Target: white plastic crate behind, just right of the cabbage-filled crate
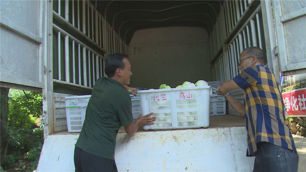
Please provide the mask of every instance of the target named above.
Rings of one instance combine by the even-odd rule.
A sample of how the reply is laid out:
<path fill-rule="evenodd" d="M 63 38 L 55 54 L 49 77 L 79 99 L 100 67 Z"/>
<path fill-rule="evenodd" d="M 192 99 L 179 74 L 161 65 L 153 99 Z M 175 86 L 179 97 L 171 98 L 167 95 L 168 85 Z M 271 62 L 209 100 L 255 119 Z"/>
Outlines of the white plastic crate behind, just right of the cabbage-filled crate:
<path fill-rule="evenodd" d="M 226 114 L 226 99 L 223 95 L 210 97 L 209 115 L 225 115 Z"/>

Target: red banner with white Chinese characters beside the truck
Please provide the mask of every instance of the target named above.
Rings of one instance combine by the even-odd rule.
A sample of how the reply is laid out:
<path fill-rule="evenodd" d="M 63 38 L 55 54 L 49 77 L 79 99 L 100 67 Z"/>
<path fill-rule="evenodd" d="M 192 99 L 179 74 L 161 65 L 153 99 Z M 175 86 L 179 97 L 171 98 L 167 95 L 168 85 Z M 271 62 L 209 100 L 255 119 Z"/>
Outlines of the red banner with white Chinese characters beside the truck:
<path fill-rule="evenodd" d="M 285 92 L 282 96 L 289 116 L 306 117 L 306 88 Z"/>

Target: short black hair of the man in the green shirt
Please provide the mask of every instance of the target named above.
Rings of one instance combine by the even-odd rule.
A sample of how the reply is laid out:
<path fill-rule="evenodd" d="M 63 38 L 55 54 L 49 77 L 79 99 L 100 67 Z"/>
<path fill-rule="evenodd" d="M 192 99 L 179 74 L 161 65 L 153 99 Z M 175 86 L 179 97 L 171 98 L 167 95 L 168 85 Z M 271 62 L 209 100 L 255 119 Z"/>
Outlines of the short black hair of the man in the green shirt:
<path fill-rule="evenodd" d="M 125 62 L 123 62 L 123 59 L 127 57 L 128 55 L 120 54 L 120 53 L 114 53 L 114 54 L 107 55 L 106 60 L 105 60 L 105 74 L 109 78 L 114 77 L 115 71 L 118 68 L 124 69 Z"/>

